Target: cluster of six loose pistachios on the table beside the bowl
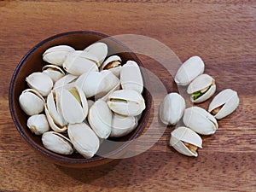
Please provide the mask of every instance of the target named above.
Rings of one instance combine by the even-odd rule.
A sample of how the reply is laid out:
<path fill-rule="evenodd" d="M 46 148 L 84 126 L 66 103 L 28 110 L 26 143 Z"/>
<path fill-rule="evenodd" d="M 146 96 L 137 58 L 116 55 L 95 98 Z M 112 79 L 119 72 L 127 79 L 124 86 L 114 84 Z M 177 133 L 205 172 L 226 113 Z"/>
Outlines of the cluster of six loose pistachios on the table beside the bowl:
<path fill-rule="evenodd" d="M 215 80 L 204 73 L 205 64 L 199 56 L 192 56 L 177 70 L 175 82 L 187 86 L 187 93 L 193 103 L 205 102 L 216 91 Z M 177 125 L 183 118 L 183 125 L 171 133 L 170 145 L 179 153 L 198 156 L 197 148 L 202 148 L 200 135 L 212 135 L 218 129 L 217 119 L 233 113 L 239 105 L 235 90 L 222 90 L 212 99 L 208 111 L 193 106 L 186 108 L 183 96 L 170 93 L 160 104 L 160 120 L 166 125 Z"/>

